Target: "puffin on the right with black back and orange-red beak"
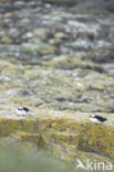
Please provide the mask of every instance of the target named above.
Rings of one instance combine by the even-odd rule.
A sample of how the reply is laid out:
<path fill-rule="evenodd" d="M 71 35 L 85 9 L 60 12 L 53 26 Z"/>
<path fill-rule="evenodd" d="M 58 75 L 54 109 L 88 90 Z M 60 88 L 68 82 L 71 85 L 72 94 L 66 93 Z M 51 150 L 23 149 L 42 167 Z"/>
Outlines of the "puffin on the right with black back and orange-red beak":
<path fill-rule="evenodd" d="M 101 116 L 97 116 L 97 115 L 95 115 L 95 114 L 90 115 L 90 117 L 91 117 L 91 121 L 92 121 L 93 123 L 97 123 L 97 125 L 102 125 L 104 121 L 107 120 L 106 118 L 101 117 Z"/>

